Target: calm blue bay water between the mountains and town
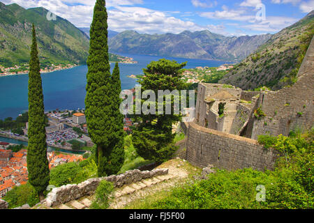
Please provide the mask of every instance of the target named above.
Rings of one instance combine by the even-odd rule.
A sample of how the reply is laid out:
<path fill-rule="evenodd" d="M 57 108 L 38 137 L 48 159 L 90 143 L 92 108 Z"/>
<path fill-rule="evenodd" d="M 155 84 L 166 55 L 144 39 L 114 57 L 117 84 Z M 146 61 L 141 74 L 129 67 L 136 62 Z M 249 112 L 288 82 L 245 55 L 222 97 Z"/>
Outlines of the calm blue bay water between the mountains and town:
<path fill-rule="evenodd" d="M 137 84 L 136 79 L 128 75 L 143 74 L 142 69 L 146 68 L 151 61 L 158 61 L 166 58 L 179 63 L 188 62 L 185 68 L 197 66 L 217 67 L 225 61 L 208 61 L 199 59 L 182 59 L 165 56 L 146 56 L 121 54 L 130 56 L 138 61 L 136 64 L 119 64 L 122 89 L 132 89 Z M 111 71 L 114 64 L 111 64 Z M 82 109 L 86 95 L 86 74 L 87 66 L 78 66 L 69 70 L 43 73 L 43 94 L 45 111 L 54 109 Z M 16 118 L 28 109 L 28 75 L 14 75 L 0 77 L 0 119 L 7 117 Z"/>

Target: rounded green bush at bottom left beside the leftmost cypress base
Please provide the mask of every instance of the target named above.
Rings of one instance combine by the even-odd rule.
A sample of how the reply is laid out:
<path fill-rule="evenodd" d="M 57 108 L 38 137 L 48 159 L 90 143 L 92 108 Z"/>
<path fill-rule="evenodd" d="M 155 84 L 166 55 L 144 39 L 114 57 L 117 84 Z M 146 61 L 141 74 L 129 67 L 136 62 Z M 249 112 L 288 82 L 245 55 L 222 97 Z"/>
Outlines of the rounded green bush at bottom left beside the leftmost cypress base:
<path fill-rule="evenodd" d="M 29 183 L 13 187 L 12 190 L 6 193 L 6 197 L 3 199 L 8 202 L 8 208 L 17 208 L 26 203 L 32 207 L 40 202 L 38 193 Z"/>

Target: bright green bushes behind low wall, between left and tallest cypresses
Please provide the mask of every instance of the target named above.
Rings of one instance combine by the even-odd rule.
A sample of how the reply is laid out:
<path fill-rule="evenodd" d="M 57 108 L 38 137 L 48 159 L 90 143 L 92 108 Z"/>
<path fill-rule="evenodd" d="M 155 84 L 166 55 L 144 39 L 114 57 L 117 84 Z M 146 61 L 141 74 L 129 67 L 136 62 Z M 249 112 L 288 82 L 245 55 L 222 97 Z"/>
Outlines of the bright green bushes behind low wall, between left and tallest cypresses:
<path fill-rule="evenodd" d="M 82 162 L 68 162 L 54 167 L 50 171 L 50 185 L 61 187 L 67 184 L 77 184 L 89 178 L 96 177 L 97 166 L 90 157 Z"/>

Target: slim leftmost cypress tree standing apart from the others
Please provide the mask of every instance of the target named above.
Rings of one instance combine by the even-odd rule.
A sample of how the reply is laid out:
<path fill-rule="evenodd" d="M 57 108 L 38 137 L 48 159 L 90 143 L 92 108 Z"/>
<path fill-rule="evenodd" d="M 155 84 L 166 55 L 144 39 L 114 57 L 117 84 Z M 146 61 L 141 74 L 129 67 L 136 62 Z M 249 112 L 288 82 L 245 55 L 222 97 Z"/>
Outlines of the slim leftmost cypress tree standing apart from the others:
<path fill-rule="evenodd" d="M 29 183 L 43 198 L 43 192 L 49 185 L 50 171 L 47 160 L 47 142 L 45 132 L 45 113 L 43 103 L 43 86 L 40 77 L 40 63 L 33 25 L 33 43 L 29 61 L 29 146 L 27 151 L 27 169 Z"/>

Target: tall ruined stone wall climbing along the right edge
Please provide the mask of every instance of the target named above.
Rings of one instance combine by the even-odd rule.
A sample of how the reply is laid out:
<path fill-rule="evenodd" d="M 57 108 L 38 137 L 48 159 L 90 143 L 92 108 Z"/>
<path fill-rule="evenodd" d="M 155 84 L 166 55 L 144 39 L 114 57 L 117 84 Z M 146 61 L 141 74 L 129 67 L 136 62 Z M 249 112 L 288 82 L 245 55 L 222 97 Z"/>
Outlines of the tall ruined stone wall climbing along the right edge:
<path fill-rule="evenodd" d="M 298 73 L 298 80 L 291 87 L 279 91 L 264 91 L 257 101 L 266 115 L 255 119 L 252 139 L 260 134 L 283 134 L 313 127 L 313 89 L 314 89 L 314 38 L 308 47 Z"/>

